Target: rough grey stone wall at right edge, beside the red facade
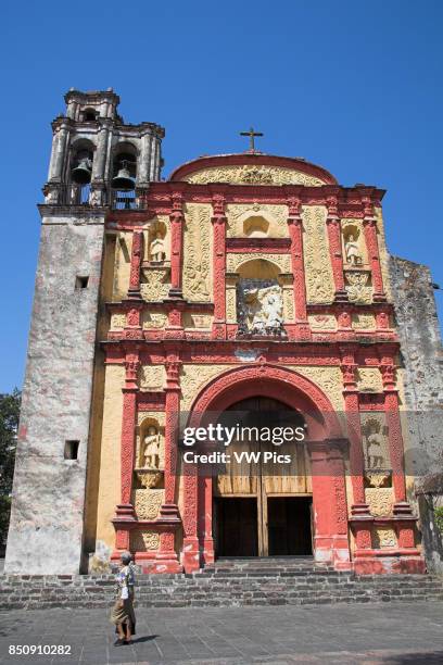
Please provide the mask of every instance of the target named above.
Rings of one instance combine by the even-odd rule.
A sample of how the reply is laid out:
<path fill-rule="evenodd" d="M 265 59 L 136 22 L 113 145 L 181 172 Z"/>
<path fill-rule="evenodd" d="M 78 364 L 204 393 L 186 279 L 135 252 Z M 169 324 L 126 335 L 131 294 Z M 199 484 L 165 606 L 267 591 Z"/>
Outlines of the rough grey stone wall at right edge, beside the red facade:
<path fill-rule="evenodd" d="M 422 477 L 443 464 L 443 349 L 435 300 L 425 265 L 391 256 L 390 274 L 410 435 L 406 473 Z"/>

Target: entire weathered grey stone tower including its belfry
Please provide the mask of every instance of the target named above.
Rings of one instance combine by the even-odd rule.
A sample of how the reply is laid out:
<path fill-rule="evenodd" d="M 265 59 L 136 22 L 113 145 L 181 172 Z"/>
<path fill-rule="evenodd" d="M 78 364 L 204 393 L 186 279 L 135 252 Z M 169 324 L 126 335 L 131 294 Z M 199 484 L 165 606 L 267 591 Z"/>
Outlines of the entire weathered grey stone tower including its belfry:
<path fill-rule="evenodd" d="M 160 180 L 164 129 L 125 124 L 118 96 L 65 96 L 52 123 L 7 573 L 78 573 L 104 222 Z"/>

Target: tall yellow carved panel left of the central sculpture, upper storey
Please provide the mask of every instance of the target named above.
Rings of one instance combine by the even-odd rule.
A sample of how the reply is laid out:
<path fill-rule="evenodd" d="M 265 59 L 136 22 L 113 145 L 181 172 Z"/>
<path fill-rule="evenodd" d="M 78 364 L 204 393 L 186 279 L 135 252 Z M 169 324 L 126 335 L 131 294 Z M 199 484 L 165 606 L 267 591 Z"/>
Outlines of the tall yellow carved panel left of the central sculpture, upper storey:
<path fill-rule="evenodd" d="M 185 206 L 183 297 L 193 302 L 211 300 L 211 212 L 202 203 Z"/>

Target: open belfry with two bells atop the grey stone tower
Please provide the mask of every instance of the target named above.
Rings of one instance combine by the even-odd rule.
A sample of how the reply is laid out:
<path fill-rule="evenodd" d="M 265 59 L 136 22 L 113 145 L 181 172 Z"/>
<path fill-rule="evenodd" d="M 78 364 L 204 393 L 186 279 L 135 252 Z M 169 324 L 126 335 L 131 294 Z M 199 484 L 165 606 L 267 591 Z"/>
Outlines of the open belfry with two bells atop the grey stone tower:
<path fill-rule="evenodd" d="M 137 208 L 149 183 L 160 180 L 163 127 L 125 124 L 112 88 L 71 89 L 65 102 L 66 114 L 52 123 L 46 203 Z"/>

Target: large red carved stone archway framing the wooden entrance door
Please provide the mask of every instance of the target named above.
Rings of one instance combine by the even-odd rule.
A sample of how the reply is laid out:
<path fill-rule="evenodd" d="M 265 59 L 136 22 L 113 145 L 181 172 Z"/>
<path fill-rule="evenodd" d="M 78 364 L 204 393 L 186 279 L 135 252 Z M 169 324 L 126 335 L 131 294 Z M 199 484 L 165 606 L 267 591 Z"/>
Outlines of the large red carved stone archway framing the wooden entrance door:
<path fill-rule="evenodd" d="M 207 411 L 221 413 L 248 397 L 263 396 L 302 413 L 308 423 L 316 561 L 350 567 L 344 455 L 347 441 L 327 396 L 306 377 L 284 367 L 258 361 L 228 369 L 211 380 L 192 407 L 198 423 Z M 212 478 L 186 469 L 183 507 L 183 566 L 193 570 L 214 561 Z"/>

